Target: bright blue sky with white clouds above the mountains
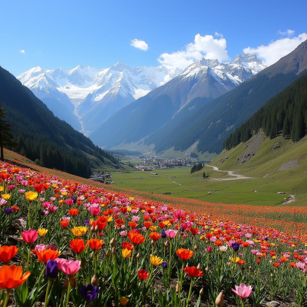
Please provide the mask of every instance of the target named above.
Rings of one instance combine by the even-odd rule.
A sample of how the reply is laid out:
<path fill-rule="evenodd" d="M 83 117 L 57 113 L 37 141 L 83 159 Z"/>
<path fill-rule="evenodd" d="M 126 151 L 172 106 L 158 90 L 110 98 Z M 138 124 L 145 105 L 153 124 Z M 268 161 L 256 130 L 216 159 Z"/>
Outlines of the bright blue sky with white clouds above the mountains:
<path fill-rule="evenodd" d="M 227 61 L 243 49 L 272 64 L 307 39 L 306 3 L 2 1 L 0 65 L 14 75 L 34 66 L 107 68 L 118 61 L 183 67 L 199 55 Z M 134 39 L 148 49 L 131 46 Z"/>

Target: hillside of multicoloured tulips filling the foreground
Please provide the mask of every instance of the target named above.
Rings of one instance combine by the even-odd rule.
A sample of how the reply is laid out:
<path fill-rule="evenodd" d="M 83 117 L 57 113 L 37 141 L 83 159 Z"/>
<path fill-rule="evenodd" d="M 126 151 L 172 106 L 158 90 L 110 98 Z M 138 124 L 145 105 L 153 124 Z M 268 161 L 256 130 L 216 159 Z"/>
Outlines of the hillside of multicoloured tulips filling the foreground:
<path fill-rule="evenodd" d="M 1 306 L 306 304 L 305 208 L 174 199 L 62 174 L 0 164 Z"/>

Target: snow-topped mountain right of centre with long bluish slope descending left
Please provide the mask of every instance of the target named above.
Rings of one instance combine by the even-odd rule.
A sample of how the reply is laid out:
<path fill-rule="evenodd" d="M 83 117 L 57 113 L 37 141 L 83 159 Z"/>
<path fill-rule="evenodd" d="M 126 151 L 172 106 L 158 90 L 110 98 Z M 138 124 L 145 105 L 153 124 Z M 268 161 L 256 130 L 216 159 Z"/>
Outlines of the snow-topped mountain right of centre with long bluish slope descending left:
<path fill-rule="evenodd" d="M 166 84 L 122 108 L 89 136 L 100 146 L 139 144 L 160 127 L 167 130 L 170 122 L 188 118 L 264 67 L 254 54 L 238 55 L 230 63 L 202 57 Z"/>

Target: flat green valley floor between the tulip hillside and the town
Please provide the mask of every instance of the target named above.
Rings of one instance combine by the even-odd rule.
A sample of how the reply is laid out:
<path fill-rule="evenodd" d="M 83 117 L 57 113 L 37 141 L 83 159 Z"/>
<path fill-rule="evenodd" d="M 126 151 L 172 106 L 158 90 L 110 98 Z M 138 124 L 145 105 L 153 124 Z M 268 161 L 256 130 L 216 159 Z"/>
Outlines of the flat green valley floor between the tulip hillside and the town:
<path fill-rule="evenodd" d="M 229 204 L 278 205 L 289 194 L 278 194 L 276 186 L 271 191 L 263 188 L 272 180 L 270 178 L 251 178 L 235 176 L 235 172 L 222 172 L 204 167 L 208 178 L 193 177 L 190 168 L 156 170 L 158 175 L 150 172 L 133 171 L 130 173 L 111 173 L 113 186 L 135 191 L 165 194 L 173 197 L 186 197 L 208 202 Z M 235 180 L 234 180 L 235 179 Z M 171 194 L 169 194 L 171 193 Z M 292 203 L 295 205 L 295 202 Z"/>

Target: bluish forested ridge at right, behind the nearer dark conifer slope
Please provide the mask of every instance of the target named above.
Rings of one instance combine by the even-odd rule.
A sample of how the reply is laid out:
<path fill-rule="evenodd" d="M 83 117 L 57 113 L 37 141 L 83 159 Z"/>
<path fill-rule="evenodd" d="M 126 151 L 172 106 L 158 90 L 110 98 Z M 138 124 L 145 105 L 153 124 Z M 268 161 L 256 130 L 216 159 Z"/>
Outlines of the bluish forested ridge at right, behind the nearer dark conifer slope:
<path fill-rule="evenodd" d="M 186 150 L 198 141 L 197 152 L 220 153 L 223 142 L 269 99 L 304 74 L 307 68 L 307 41 L 275 64 L 235 89 L 204 104 L 181 121 L 168 122 L 146 139 L 156 152 Z"/>

